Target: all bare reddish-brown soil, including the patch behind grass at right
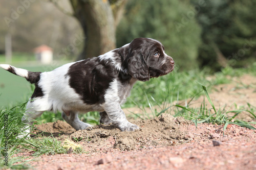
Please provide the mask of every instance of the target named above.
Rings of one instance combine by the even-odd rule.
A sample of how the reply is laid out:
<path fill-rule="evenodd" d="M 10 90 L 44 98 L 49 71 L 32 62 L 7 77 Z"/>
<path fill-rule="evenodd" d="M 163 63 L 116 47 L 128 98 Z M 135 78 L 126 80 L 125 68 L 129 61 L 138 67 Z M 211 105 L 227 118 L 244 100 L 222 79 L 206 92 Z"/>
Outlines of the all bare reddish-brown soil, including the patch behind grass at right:
<path fill-rule="evenodd" d="M 255 77 L 232 79 L 234 83 L 216 86 L 210 93 L 215 105 L 230 109 L 248 109 L 247 103 L 256 106 Z M 202 101 L 203 97 L 194 101 L 195 107 Z M 255 120 L 245 112 L 241 117 Z M 33 169 L 256 169 L 256 130 L 228 125 L 223 132 L 223 125 L 212 124 L 196 128 L 170 114 L 134 124 L 140 127 L 135 132 L 120 132 L 111 125 L 75 131 L 59 120 L 39 125 L 37 133 L 52 133 L 63 144 L 75 141 L 86 153 L 41 155 L 30 164 Z M 16 156 L 33 158 L 32 154 Z"/>

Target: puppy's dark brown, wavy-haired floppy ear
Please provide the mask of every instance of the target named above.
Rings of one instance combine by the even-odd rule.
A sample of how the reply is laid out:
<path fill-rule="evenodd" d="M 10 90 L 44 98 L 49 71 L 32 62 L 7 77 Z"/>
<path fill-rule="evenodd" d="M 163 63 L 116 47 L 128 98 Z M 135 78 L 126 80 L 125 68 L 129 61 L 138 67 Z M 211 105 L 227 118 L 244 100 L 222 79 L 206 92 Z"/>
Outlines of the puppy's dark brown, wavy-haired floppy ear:
<path fill-rule="evenodd" d="M 150 80 L 150 71 L 140 50 L 132 51 L 126 58 L 126 68 L 129 75 L 139 81 Z"/>

